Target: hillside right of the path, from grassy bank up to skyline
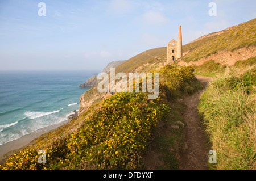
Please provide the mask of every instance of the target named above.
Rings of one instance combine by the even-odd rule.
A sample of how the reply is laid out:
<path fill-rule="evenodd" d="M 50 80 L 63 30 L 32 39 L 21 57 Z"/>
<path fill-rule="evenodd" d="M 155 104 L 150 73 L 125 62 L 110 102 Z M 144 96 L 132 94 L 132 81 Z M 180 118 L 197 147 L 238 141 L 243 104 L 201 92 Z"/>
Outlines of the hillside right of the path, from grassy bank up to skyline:
<path fill-rule="evenodd" d="M 201 94 L 198 110 L 217 163 L 210 169 L 256 169 L 256 46 L 250 20 L 185 45 L 175 62 L 214 77 Z"/>

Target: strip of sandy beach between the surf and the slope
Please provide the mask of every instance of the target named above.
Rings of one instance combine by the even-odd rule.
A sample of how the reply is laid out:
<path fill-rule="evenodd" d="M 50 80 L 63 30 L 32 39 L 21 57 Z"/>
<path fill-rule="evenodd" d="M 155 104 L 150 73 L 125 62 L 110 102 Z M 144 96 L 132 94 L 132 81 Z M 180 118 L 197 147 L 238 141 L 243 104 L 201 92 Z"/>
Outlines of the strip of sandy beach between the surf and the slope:
<path fill-rule="evenodd" d="M 58 128 L 61 125 L 68 123 L 69 121 L 71 121 L 73 119 L 73 117 L 77 116 L 77 113 L 78 112 L 73 111 L 67 117 L 67 120 L 61 121 L 60 123 L 56 123 L 53 125 L 49 125 L 48 127 L 40 128 L 32 133 L 26 134 L 26 135 L 18 138 L 17 140 L 6 142 L 5 144 L 0 145 L 0 158 L 3 155 L 5 155 L 6 153 L 8 153 L 9 151 L 14 151 L 14 150 L 22 148 L 23 146 L 26 146 L 27 144 L 29 144 L 31 141 L 35 140 L 42 134 L 47 133 L 47 132 L 51 131 L 52 129 Z"/>

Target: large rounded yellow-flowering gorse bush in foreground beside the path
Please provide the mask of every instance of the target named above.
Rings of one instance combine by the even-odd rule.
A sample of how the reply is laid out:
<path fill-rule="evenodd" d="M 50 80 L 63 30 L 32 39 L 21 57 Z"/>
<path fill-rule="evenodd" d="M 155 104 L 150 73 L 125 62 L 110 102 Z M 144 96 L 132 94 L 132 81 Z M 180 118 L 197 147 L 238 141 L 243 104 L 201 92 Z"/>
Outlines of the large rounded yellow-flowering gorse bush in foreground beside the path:
<path fill-rule="evenodd" d="M 71 134 L 68 159 L 79 162 L 85 158 L 90 164 L 97 163 L 96 169 L 138 168 L 151 127 L 169 110 L 155 102 L 142 93 L 119 93 L 106 99 L 80 130 Z"/>

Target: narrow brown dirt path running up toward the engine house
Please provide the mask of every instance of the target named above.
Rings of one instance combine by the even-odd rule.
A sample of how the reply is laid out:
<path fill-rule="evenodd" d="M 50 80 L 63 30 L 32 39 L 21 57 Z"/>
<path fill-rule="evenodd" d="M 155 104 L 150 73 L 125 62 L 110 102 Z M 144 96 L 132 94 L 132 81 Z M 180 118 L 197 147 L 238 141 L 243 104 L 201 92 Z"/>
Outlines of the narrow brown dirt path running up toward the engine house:
<path fill-rule="evenodd" d="M 207 86 L 207 82 L 212 81 L 211 77 L 196 75 L 196 78 Z M 201 90 L 191 96 L 187 96 L 184 102 L 187 104 L 183 118 L 186 123 L 184 130 L 186 151 L 180 156 L 180 169 L 182 170 L 205 170 L 208 169 L 208 152 L 209 148 L 205 139 L 203 128 L 200 124 L 199 115 L 197 113 L 197 105 Z"/>

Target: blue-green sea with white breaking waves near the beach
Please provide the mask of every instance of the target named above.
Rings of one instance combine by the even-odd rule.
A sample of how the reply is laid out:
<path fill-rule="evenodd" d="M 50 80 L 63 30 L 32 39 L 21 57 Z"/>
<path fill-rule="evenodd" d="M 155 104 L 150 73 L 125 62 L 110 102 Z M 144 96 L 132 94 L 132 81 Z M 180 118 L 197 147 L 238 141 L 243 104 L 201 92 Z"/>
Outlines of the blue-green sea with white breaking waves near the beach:
<path fill-rule="evenodd" d="M 67 120 L 95 72 L 0 72 L 0 145 Z"/>

